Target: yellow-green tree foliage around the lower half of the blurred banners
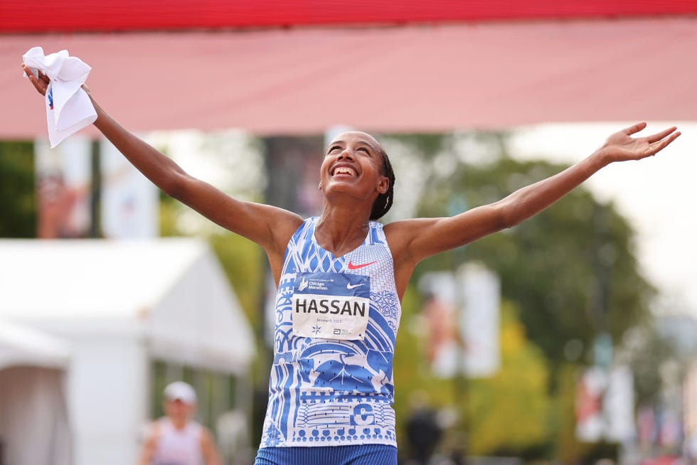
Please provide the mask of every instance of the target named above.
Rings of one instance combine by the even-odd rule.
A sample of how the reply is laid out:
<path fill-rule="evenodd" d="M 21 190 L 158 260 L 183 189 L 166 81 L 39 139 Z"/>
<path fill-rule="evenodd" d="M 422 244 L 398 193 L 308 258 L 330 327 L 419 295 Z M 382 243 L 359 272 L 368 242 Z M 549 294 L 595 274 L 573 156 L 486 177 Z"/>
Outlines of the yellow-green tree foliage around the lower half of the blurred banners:
<path fill-rule="evenodd" d="M 501 305 L 501 370 L 491 378 L 458 380 L 430 372 L 419 302 L 415 287 L 410 287 L 397 336 L 395 412 L 398 442 L 405 446 L 400 452 L 408 453 L 405 428 L 415 395 L 427 395 L 431 407 L 457 416 L 445 432 L 442 451 L 525 456 L 531 449 L 546 448 L 551 434 L 548 367 L 542 351 L 526 338 L 516 304 Z"/>

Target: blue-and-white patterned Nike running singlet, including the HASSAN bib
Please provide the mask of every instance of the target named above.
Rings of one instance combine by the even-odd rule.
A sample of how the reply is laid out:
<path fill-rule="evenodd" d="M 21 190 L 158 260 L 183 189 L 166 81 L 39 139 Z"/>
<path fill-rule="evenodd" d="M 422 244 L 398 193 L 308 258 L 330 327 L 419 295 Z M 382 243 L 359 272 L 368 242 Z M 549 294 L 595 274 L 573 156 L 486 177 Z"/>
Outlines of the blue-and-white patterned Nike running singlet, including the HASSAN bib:
<path fill-rule="evenodd" d="M 393 382 L 401 306 L 383 225 L 341 257 L 309 218 L 289 241 L 275 313 L 260 447 L 396 446 Z"/>

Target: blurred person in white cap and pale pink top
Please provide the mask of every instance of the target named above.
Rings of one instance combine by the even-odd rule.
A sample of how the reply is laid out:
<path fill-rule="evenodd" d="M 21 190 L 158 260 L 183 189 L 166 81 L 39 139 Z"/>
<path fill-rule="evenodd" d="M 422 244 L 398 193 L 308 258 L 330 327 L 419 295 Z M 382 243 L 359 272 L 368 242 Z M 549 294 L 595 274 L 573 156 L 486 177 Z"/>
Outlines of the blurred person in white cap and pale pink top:
<path fill-rule="evenodd" d="M 222 465 L 213 434 L 192 419 L 196 391 L 191 385 L 167 385 L 164 412 L 148 428 L 138 465 Z"/>

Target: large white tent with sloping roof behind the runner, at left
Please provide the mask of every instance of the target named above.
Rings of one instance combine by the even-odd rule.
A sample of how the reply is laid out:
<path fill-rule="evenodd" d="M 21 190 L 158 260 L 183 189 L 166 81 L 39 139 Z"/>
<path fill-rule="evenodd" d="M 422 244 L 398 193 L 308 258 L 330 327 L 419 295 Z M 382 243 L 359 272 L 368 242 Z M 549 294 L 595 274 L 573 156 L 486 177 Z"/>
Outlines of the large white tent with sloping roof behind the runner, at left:
<path fill-rule="evenodd" d="M 134 463 L 153 360 L 244 377 L 253 356 L 248 322 L 200 240 L 1 240 L 0 319 L 70 343 L 77 465 Z"/>

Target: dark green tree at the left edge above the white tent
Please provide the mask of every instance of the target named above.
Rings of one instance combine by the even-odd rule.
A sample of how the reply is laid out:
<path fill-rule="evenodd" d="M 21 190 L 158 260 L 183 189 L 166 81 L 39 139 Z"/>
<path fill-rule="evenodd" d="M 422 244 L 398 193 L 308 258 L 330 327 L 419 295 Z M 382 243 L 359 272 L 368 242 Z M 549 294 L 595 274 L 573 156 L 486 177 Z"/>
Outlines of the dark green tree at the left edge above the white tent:
<path fill-rule="evenodd" d="M 34 146 L 0 141 L 0 237 L 36 237 Z"/>

